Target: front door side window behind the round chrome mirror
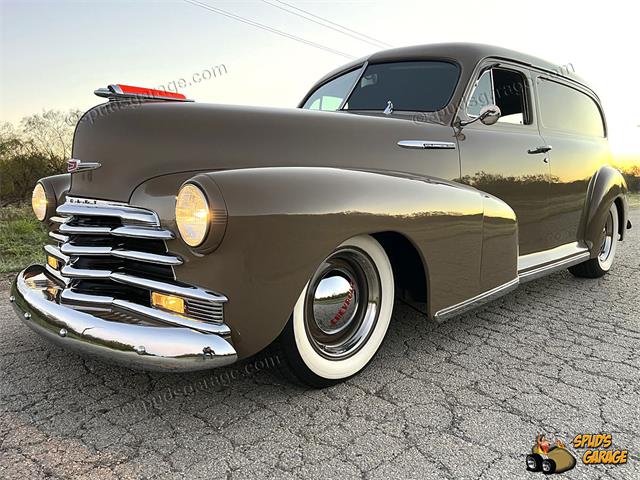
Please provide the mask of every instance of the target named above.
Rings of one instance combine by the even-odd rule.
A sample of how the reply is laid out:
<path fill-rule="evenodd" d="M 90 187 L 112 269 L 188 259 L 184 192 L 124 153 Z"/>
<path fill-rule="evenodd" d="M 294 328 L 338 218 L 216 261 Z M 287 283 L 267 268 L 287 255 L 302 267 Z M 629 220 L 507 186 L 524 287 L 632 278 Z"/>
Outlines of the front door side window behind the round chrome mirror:
<path fill-rule="evenodd" d="M 502 115 L 498 123 L 530 125 L 531 101 L 526 78 L 520 72 L 503 68 L 485 71 L 474 85 L 467 103 L 467 115 L 477 117 L 486 105 L 497 105 Z"/>

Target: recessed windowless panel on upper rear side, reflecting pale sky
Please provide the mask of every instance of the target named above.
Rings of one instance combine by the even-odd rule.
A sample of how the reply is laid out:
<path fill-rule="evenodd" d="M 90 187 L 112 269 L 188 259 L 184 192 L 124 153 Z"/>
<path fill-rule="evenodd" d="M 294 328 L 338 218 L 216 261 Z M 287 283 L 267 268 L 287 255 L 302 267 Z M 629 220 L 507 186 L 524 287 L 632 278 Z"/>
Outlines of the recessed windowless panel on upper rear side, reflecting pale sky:
<path fill-rule="evenodd" d="M 588 95 L 550 80 L 538 84 L 542 125 L 579 135 L 604 137 L 604 122 L 596 102 Z"/>

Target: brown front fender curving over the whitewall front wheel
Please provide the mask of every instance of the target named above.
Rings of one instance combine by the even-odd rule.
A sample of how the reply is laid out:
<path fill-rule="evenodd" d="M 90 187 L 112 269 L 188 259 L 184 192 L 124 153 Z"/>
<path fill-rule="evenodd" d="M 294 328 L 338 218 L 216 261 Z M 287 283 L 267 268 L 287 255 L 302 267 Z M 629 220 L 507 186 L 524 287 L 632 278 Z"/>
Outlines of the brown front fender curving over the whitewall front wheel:
<path fill-rule="evenodd" d="M 176 239 L 168 242 L 168 248 L 185 260 L 175 267 L 178 280 L 229 298 L 225 322 L 241 358 L 280 334 L 318 265 L 337 245 L 356 235 L 397 232 L 416 247 L 427 272 L 432 315 L 483 291 L 480 270 L 487 201 L 474 188 L 427 177 L 338 168 L 251 168 L 205 175 L 220 189 L 227 206 L 228 223 L 220 246 L 200 255 Z M 193 176 L 185 173 L 145 182 L 131 203 L 155 210 L 164 226 L 177 231 L 175 194 Z M 501 232 L 501 222 L 491 227 L 492 236 L 500 237 Z M 515 223 L 509 224 L 509 232 L 509 241 L 517 245 Z M 510 269 L 515 261 L 515 256 L 506 260 Z"/>

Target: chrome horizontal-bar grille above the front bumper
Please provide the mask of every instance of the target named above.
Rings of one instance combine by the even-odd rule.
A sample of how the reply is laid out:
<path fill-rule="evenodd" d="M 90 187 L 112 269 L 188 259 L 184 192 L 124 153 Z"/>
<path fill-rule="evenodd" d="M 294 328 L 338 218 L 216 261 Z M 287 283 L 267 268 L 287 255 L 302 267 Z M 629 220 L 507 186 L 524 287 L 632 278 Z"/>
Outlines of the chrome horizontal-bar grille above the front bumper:
<path fill-rule="evenodd" d="M 49 233 L 54 244 L 44 250 L 58 260 L 59 267 L 47 264 L 46 269 L 63 285 L 61 303 L 111 312 L 101 314 L 105 319 L 137 315 L 164 324 L 229 333 L 223 324 L 224 295 L 175 280 L 173 267 L 181 265 L 182 259 L 167 252 L 165 241 L 174 235 L 160 226 L 155 212 L 67 197 L 51 220 L 57 224 Z M 183 297 L 185 314 L 153 308 L 152 291 Z"/>

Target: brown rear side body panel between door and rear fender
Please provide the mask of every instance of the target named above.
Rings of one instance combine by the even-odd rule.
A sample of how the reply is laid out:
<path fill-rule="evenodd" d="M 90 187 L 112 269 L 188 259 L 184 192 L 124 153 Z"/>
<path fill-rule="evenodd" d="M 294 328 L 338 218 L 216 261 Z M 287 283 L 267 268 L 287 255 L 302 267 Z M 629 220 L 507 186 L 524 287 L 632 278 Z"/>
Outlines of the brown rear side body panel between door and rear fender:
<path fill-rule="evenodd" d="M 588 90 L 545 73 L 533 75 L 538 126 L 546 143 L 553 146 L 549 152 L 550 247 L 578 244 L 589 181 L 610 161 L 604 117 Z"/>

